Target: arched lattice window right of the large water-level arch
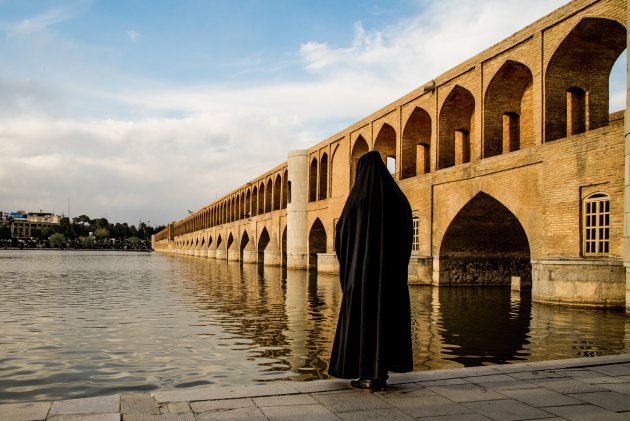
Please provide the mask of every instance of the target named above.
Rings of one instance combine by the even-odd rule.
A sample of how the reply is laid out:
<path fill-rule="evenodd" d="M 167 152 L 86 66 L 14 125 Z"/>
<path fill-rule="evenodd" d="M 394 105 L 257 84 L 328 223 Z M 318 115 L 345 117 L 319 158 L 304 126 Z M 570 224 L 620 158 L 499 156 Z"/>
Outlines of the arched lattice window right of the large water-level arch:
<path fill-rule="evenodd" d="M 584 199 L 582 208 L 585 256 L 606 255 L 610 250 L 610 196 L 595 193 Z"/>

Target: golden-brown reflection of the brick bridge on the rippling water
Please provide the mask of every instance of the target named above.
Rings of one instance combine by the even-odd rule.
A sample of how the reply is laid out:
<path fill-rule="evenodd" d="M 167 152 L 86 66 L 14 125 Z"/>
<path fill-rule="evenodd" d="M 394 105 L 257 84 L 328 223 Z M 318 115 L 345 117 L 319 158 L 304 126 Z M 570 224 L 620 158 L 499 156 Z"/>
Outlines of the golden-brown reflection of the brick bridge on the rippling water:
<path fill-rule="evenodd" d="M 205 314 L 224 331 L 226 351 L 245 352 L 260 381 L 326 378 L 341 300 L 335 274 L 186 259 Z M 500 287 L 412 286 L 416 370 L 607 355 L 630 350 L 630 319 L 618 312 L 533 305 Z"/>

